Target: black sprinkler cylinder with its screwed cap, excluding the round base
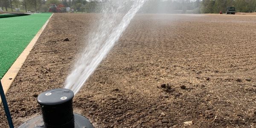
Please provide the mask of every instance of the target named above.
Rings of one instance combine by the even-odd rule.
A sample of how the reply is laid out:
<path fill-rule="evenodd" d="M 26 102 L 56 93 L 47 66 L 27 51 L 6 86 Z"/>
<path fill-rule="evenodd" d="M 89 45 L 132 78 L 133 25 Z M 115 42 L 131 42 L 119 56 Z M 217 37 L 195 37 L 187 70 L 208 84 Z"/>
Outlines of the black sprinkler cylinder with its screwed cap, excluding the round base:
<path fill-rule="evenodd" d="M 48 90 L 38 96 L 44 128 L 75 128 L 72 90 L 58 88 Z"/>

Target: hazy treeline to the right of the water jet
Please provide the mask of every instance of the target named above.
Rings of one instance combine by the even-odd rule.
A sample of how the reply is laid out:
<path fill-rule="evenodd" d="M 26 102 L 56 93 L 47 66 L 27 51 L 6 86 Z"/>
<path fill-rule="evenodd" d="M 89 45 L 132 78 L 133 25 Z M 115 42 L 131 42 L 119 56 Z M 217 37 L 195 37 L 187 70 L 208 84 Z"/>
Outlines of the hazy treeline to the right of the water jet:
<path fill-rule="evenodd" d="M 256 0 L 148 0 L 141 13 L 219 13 L 227 7 L 236 12 L 256 12 Z"/>

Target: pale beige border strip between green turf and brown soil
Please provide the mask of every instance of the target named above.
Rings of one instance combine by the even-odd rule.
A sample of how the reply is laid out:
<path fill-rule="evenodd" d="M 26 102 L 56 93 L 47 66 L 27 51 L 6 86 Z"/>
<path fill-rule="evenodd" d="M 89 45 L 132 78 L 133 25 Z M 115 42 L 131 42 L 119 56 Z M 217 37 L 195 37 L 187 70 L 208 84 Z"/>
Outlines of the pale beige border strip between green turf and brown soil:
<path fill-rule="evenodd" d="M 53 15 L 53 13 L 52 13 Z M 45 27 L 47 26 L 49 20 L 51 19 L 52 15 L 48 18 L 48 20 L 44 23 L 42 28 L 38 31 L 38 33 L 35 35 L 35 37 L 30 41 L 26 49 L 23 50 L 23 52 L 20 54 L 20 56 L 16 59 L 16 61 L 12 64 L 12 67 L 6 72 L 6 74 L 1 79 L 4 93 L 6 94 L 9 88 L 12 85 L 12 82 L 14 81 L 15 77 L 20 71 L 20 68 L 23 66 L 27 56 L 29 55 L 30 51 L 34 47 L 36 41 L 40 37 L 41 33 L 44 31 Z M 1 100 L 0 100 L 1 103 Z"/>

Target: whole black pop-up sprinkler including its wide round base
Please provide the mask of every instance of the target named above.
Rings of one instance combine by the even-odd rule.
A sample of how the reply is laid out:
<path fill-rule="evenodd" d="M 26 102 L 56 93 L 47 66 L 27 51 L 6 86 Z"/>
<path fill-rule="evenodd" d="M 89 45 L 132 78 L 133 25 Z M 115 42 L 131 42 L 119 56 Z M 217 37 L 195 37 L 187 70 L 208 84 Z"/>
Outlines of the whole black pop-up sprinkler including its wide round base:
<path fill-rule="evenodd" d="M 18 128 L 93 128 L 90 121 L 73 113 L 72 90 L 58 88 L 41 93 L 38 104 L 42 116 L 23 123 Z"/>

